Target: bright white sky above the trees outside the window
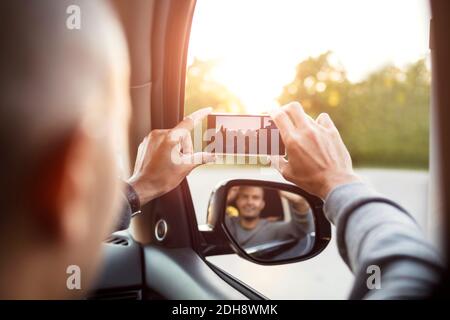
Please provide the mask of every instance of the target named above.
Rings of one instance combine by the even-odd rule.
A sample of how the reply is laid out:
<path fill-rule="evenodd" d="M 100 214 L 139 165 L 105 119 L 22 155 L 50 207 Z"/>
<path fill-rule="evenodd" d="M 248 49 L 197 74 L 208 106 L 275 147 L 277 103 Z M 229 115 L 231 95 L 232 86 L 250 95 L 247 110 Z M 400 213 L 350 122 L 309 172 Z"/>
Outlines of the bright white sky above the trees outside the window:
<path fill-rule="evenodd" d="M 426 0 L 198 0 L 188 64 L 215 60 L 214 79 L 260 113 L 309 56 L 333 51 L 355 82 L 428 57 L 429 19 Z"/>

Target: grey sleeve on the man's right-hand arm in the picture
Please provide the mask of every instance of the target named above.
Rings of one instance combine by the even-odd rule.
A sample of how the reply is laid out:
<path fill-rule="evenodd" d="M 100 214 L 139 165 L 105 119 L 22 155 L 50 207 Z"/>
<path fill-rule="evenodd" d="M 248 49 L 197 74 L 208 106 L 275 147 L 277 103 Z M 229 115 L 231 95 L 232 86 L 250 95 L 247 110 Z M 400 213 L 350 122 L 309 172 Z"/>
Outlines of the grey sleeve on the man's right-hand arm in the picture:
<path fill-rule="evenodd" d="M 335 188 L 324 209 L 336 226 L 339 253 L 355 275 L 350 299 L 420 299 L 438 285 L 440 257 L 401 206 L 352 183 Z M 381 288 L 369 289 L 371 266 L 379 267 Z"/>

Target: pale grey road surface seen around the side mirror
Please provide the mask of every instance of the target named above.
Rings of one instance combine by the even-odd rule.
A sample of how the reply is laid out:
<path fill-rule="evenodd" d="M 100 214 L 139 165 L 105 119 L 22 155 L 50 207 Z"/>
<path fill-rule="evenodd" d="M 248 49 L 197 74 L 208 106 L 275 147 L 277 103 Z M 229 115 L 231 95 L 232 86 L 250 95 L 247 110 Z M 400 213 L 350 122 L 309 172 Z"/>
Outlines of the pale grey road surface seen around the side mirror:
<path fill-rule="evenodd" d="M 358 174 L 379 192 L 394 199 L 426 230 L 428 172 L 413 170 L 360 169 Z M 206 221 L 211 190 L 225 179 L 284 181 L 271 168 L 202 166 L 188 177 L 199 224 Z M 210 257 L 208 260 L 250 285 L 270 299 L 345 299 L 353 275 L 340 258 L 333 228 L 333 239 L 318 256 L 282 266 L 260 266 L 237 255 Z"/>

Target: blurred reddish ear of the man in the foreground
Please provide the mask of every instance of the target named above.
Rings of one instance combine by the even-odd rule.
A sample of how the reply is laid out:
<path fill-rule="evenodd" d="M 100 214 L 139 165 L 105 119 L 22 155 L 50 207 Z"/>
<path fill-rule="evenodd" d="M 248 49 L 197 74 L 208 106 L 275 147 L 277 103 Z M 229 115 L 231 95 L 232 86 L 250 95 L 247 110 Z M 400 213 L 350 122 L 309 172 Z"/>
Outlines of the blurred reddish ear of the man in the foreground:
<path fill-rule="evenodd" d="M 75 242 L 88 231 L 91 152 L 89 136 L 75 130 L 61 139 L 37 168 L 37 182 L 30 191 L 34 194 L 37 222 L 49 237 Z"/>

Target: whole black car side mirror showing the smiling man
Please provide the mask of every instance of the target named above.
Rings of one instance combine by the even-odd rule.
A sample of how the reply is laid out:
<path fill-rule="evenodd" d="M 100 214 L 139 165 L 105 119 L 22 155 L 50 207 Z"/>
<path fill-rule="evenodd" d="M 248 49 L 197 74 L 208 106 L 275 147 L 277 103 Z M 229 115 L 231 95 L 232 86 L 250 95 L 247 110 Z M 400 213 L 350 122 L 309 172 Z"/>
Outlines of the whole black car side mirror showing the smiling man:
<path fill-rule="evenodd" d="M 292 184 L 229 180 L 211 194 L 209 239 L 263 265 L 303 261 L 331 239 L 323 201 Z"/>

